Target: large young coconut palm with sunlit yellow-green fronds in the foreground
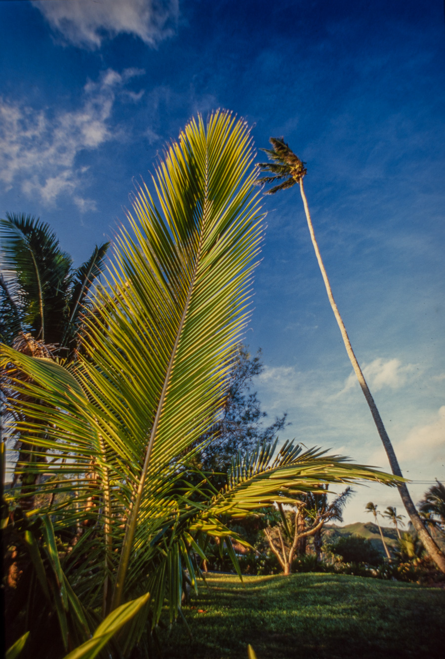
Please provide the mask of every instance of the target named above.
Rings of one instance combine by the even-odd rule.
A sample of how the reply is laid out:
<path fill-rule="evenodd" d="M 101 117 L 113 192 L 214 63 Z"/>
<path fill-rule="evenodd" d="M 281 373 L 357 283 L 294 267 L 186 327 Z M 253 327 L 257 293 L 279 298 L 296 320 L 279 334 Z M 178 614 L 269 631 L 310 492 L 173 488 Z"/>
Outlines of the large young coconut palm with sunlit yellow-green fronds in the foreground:
<path fill-rule="evenodd" d="M 36 419 L 19 428 L 34 445 L 44 428 L 51 451 L 51 462 L 35 466 L 45 474 L 41 521 L 17 514 L 5 525 L 34 585 L 16 604 L 28 612 L 15 612 L 9 645 L 30 621 L 35 659 L 57 659 L 67 629 L 81 643 L 101 608 L 104 617 L 145 592 L 150 600 L 120 648 L 109 646 L 110 656 L 130 656 L 133 645 L 148 643 L 165 598 L 173 621 L 185 583 L 196 588 L 206 538 L 220 538 L 237 565 L 230 538 L 246 543 L 225 526 L 229 517 L 330 483 L 400 480 L 293 443 L 277 453 L 268 442 L 235 456 L 222 490 L 205 474 L 187 480 L 187 449 L 203 436 L 212 441 L 208 431 L 223 413 L 249 314 L 262 240 L 253 158 L 249 130 L 230 113 L 191 121 L 153 177 L 158 207 L 146 186 L 134 198 L 78 360 L 57 364 L 3 350 L 4 362 L 26 376 L 15 382 L 28 396 L 19 411 Z M 38 645 L 42 634 L 53 649 Z"/>

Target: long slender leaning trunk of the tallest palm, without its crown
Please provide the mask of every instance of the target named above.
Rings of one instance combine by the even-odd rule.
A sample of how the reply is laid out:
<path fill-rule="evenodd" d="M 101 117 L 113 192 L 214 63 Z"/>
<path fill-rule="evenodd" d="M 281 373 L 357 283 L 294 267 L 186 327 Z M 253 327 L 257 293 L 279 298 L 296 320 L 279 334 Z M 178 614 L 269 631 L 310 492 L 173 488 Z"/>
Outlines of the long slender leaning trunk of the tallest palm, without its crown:
<path fill-rule="evenodd" d="M 326 286 L 326 292 L 328 293 L 328 298 L 332 307 L 332 311 L 334 312 L 334 316 L 336 317 L 338 326 L 340 328 L 341 337 L 343 337 L 343 343 L 345 344 L 347 355 L 351 360 L 351 364 L 354 369 L 355 375 L 357 376 L 357 380 L 359 380 L 361 390 L 363 391 L 363 395 L 365 396 L 367 403 L 369 405 L 369 409 L 371 410 L 372 418 L 374 419 L 374 423 L 376 424 L 378 434 L 380 435 L 380 439 L 382 440 L 382 444 L 384 445 L 384 449 L 386 451 L 386 455 L 388 456 L 388 461 L 390 463 L 392 473 L 395 476 L 402 476 L 403 474 L 401 473 L 398 459 L 396 457 L 396 453 L 394 453 L 394 448 L 392 447 L 391 440 L 388 437 L 388 433 L 386 432 L 382 418 L 378 413 L 378 409 L 376 407 L 376 404 L 374 403 L 374 399 L 372 398 L 371 391 L 369 391 L 369 387 L 367 385 L 365 377 L 363 376 L 363 373 L 359 366 L 359 362 L 357 361 L 357 358 L 354 355 L 354 351 L 351 346 L 351 341 L 349 341 L 349 337 L 347 335 L 345 325 L 343 323 L 343 320 L 341 319 L 340 312 L 337 308 L 336 302 L 334 301 L 334 296 L 332 295 L 332 289 L 329 283 L 328 275 L 326 274 L 326 270 L 324 269 L 324 264 L 321 258 L 320 250 L 318 249 L 318 244 L 315 239 L 314 229 L 312 227 L 311 214 L 309 213 L 309 206 L 307 204 L 305 189 L 303 188 L 302 177 L 299 178 L 298 183 L 300 186 L 301 198 L 303 199 L 303 204 L 305 206 L 305 214 L 306 214 L 307 224 L 309 226 L 309 232 L 311 233 L 312 245 L 314 246 L 316 258 L 318 261 L 318 266 L 320 266 L 320 270 L 322 273 L 324 285 Z M 440 551 L 440 549 L 438 548 L 438 546 L 430 536 L 427 529 L 425 529 L 421 517 L 419 516 L 419 513 L 417 512 L 413 500 L 411 499 L 411 496 L 408 492 L 408 488 L 406 484 L 405 483 L 400 484 L 398 486 L 398 490 L 400 492 L 400 497 L 403 502 L 403 505 L 405 506 L 405 509 L 409 515 L 409 519 L 411 519 L 411 522 L 413 523 L 413 527 L 417 531 L 417 534 L 419 535 L 419 538 L 422 541 L 423 546 L 427 550 L 429 556 L 433 559 L 434 563 L 436 563 L 438 569 L 440 569 L 441 572 L 445 573 L 445 556 Z"/>

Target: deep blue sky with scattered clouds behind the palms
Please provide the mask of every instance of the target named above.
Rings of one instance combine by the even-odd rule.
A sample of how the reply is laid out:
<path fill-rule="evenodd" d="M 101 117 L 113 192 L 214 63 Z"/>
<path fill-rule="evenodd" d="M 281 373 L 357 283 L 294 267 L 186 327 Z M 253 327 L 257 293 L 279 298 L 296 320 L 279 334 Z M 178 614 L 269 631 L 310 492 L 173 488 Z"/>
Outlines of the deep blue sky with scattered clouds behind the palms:
<path fill-rule="evenodd" d="M 191 115 L 231 109 L 257 147 L 283 135 L 307 161 L 334 296 L 401 466 L 443 480 L 442 0 L 6 0 L 0 25 L 1 214 L 40 216 L 80 263 Z M 263 407 L 288 412 L 283 438 L 387 469 L 298 190 L 264 206 L 246 338 L 263 349 Z M 361 487 L 345 521 L 371 499 L 401 509 Z"/>

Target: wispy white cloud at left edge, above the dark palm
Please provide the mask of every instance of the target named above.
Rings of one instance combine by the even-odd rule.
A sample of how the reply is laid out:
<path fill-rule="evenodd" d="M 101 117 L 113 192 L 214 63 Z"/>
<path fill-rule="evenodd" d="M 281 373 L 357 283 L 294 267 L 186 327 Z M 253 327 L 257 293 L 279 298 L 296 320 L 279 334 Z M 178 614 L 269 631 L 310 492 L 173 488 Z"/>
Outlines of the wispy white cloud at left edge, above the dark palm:
<path fill-rule="evenodd" d="M 86 84 L 82 105 L 73 111 L 34 111 L 0 98 L 0 182 L 5 190 L 18 184 L 27 196 L 40 196 L 45 206 L 67 194 L 81 212 L 94 210 L 94 200 L 80 195 L 88 168 L 76 166 L 76 157 L 115 137 L 109 118 L 117 90 L 141 73 L 105 71 L 98 82 Z"/>

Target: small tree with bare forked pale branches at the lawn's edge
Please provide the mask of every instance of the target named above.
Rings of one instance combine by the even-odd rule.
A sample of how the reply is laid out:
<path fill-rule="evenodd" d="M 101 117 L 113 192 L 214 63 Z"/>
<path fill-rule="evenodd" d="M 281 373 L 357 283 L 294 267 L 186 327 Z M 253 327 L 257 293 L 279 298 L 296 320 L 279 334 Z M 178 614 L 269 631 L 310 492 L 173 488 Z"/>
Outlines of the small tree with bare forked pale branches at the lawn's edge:
<path fill-rule="evenodd" d="M 306 553 L 307 538 L 320 533 L 326 522 L 341 519 L 341 511 L 351 496 L 351 488 L 346 488 L 330 504 L 327 501 L 327 490 L 327 485 L 320 484 L 312 492 L 295 499 L 293 511 L 283 509 L 283 504 L 279 502 L 282 523 L 264 529 L 264 535 L 283 574 L 291 573 L 295 556 Z"/>

